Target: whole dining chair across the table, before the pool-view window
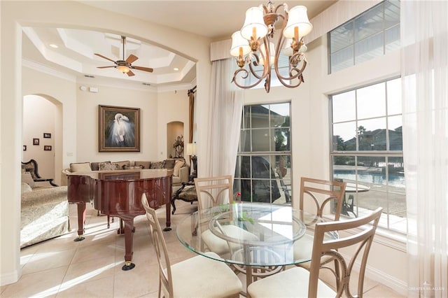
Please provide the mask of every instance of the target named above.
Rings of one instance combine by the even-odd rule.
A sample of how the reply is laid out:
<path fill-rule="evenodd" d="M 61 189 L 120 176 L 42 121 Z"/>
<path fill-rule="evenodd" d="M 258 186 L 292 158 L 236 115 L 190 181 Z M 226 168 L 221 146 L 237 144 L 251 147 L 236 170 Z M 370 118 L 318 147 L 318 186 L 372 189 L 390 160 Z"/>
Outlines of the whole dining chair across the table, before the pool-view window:
<path fill-rule="evenodd" d="M 333 209 L 333 214 L 325 213 L 325 218 L 329 220 L 339 220 L 342 210 L 342 204 L 345 196 L 346 183 L 337 180 L 322 180 L 315 178 L 302 177 L 300 179 L 300 198 L 299 209 L 307 209 L 310 213 L 315 214 L 318 218 L 322 218 L 325 210 Z M 309 204 L 307 204 L 309 203 Z M 331 204 L 332 203 L 332 204 Z M 311 207 L 309 206 L 311 205 Z M 313 209 L 311 211 L 310 209 Z M 308 224 L 312 224 L 309 222 Z M 311 259 L 313 248 L 313 236 L 305 234 L 301 239 L 294 243 L 294 258 Z M 321 259 L 321 265 L 328 264 L 334 260 L 330 255 L 325 255 Z M 296 264 L 309 270 L 311 262 L 302 262 Z M 335 262 L 335 271 L 337 272 L 337 262 Z M 325 267 L 326 268 L 326 267 Z M 330 269 L 330 267 L 328 267 Z M 336 278 L 338 281 L 338 278 Z"/>

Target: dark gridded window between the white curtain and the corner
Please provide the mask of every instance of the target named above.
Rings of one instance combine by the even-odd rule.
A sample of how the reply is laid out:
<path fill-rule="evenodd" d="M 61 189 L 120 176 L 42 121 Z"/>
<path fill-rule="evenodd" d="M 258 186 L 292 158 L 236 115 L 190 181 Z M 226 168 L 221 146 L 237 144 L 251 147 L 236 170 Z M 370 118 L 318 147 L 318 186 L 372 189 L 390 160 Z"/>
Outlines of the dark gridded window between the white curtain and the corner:
<path fill-rule="evenodd" d="M 290 204 L 290 103 L 244 106 L 235 170 L 243 201 Z"/>

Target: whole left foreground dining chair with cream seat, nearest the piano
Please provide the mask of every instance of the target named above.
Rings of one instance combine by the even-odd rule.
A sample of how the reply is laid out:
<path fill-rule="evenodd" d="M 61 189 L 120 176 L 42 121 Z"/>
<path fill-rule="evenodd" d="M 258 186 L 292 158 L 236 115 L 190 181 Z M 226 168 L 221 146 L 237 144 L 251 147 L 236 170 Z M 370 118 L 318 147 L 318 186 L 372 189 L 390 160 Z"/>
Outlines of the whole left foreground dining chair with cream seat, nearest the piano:
<path fill-rule="evenodd" d="M 141 204 L 151 227 L 151 239 L 159 264 L 159 298 L 162 292 L 166 298 L 239 297 L 241 281 L 228 265 L 211 259 L 218 257 L 215 253 L 208 253 L 210 257 L 197 255 L 171 264 L 157 214 L 149 206 L 145 194 L 141 195 Z"/>

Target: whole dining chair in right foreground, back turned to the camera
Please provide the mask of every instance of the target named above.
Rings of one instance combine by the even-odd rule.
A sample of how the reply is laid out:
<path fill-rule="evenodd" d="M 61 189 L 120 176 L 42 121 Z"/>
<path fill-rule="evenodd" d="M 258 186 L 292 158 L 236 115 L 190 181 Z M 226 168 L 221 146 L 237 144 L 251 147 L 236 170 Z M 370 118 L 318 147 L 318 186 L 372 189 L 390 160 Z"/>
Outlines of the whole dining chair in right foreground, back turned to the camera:
<path fill-rule="evenodd" d="M 365 267 L 372 246 L 373 237 L 377 229 L 382 208 L 377 208 L 370 215 L 344 221 L 319 222 L 316 224 L 316 232 L 313 241 L 313 253 L 311 267 L 308 271 L 302 267 L 293 267 L 273 276 L 255 281 L 248 286 L 248 295 L 252 298 L 262 297 L 362 297 L 365 276 Z M 326 233 L 335 233 L 350 230 L 343 237 L 325 241 Z M 354 234 L 353 234 L 354 233 Z M 340 236 L 340 235 L 339 235 Z M 338 252 L 340 248 L 353 247 L 354 253 L 345 260 Z M 345 250 L 347 251 L 352 250 Z M 325 282 L 319 279 L 321 257 L 330 255 L 339 264 L 339 287 L 333 290 Z M 359 265 L 358 287 L 356 295 L 351 293 L 350 283 L 353 266 Z M 354 278 L 354 277 L 353 277 Z"/>

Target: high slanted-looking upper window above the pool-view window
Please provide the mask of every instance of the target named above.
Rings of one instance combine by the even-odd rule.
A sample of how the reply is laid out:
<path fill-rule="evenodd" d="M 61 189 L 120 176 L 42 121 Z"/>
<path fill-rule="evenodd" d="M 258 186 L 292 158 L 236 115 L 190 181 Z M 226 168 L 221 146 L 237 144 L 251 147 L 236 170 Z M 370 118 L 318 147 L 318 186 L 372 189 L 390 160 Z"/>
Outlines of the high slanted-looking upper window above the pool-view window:
<path fill-rule="evenodd" d="M 387 0 L 328 34 L 330 73 L 400 48 L 400 1 Z"/>

